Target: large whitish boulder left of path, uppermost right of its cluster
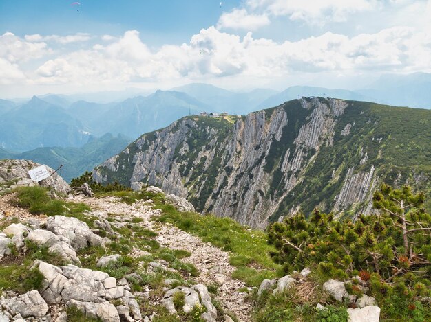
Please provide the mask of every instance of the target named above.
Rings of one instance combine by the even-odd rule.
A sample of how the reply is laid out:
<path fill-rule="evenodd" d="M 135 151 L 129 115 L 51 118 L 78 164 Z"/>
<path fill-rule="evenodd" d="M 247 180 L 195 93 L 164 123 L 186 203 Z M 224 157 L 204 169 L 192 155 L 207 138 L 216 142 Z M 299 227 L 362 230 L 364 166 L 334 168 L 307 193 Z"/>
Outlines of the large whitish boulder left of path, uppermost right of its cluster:
<path fill-rule="evenodd" d="M 56 235 L 68 238 L 76 250 L 87 246 L 103 246 L 103 239 L 88 228 L 88 225 L 78 218 L 54 216 L 48 218 L 47 230 Z"/>

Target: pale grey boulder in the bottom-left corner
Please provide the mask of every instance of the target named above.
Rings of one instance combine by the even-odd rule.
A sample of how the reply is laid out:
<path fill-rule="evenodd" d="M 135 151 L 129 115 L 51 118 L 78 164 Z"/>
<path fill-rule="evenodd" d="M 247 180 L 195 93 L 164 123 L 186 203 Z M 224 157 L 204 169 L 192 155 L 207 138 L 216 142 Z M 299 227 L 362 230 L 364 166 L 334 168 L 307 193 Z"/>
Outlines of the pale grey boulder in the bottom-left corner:
<path fill-rule="evenodd" d="M 12 297 L 6 303 L 6 310 L 12 315 L 21 314 L 21 317 L 45 317 L 48 305 L 36 290 L 31 290 L 18 297 Z"/>

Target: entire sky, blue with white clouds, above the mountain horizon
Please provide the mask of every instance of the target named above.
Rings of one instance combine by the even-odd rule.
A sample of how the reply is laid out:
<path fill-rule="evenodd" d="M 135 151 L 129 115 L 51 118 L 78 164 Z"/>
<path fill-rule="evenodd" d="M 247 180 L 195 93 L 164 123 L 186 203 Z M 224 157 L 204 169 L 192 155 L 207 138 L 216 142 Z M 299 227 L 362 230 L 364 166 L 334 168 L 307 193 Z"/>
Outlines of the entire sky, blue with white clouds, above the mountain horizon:
<path fill-rule="evenodd" d="M 0 0 L 0 97 L 431 72 L 431 0 Z"/>

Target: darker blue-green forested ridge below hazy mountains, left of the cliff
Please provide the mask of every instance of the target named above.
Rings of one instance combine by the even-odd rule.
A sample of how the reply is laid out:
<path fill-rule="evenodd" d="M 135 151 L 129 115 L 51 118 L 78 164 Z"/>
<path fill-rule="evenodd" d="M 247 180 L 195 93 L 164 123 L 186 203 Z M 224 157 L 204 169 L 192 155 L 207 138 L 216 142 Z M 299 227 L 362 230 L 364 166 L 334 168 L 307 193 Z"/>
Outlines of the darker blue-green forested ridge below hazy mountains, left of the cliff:
<path fill-rule="evenodd" d="M 28 159 L 49 165 L 53 169 L 63 164 L 61 176 L 69 182 L 72 178 L 92 170 L 95 165 L 123 150 L 130 141 L 132 140 L 123 135 L 114 137 L 107 133 L 100 138 L 92 137 L 89 143 L 80 148 L 36 148 L 21 154 L 11 154 L 0 148 L 0 159 Z"/>

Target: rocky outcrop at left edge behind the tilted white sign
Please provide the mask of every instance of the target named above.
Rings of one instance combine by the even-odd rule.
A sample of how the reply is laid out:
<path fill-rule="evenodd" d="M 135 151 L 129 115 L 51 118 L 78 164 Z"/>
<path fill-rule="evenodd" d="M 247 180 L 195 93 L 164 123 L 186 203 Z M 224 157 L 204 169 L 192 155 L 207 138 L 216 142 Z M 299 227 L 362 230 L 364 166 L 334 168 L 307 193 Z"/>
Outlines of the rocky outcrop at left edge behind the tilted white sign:
<path fill-rule="evenodd" d="M 55 192 L 67 194 L 70 192 L 70 185 L 55 173 L 48 165 L 45 165 L 52 176 L 36 182 L 30 179 L 29 170 L 39 167 L 41 164 L 30 160 L 0 160 L 0 192 L 10 191 L 15 187 L 41 185 L 49 187 Z"/>

